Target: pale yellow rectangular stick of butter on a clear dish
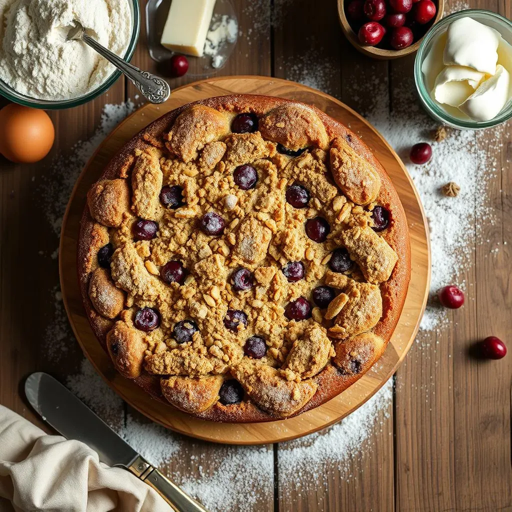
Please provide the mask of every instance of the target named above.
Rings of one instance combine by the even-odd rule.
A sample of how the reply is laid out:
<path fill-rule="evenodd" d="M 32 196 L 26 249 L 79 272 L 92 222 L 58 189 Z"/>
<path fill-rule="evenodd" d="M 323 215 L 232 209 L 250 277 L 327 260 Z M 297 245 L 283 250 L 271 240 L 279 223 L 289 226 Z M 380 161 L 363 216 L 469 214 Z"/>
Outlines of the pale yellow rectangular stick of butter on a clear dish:
<path fill-rule="evenodd" d="M 202 57 L 215 0 L 173 0 L 160 42 L 173 52 Z"/>

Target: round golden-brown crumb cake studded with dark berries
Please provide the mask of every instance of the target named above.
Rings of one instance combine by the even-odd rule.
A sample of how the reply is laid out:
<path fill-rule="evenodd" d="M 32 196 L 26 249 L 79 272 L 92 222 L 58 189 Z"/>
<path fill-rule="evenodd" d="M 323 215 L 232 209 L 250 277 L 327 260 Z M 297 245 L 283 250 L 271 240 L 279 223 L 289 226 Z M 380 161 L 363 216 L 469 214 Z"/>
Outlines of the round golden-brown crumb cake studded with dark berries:
<path fill-rule="evenodd" d="M 336 396 L 385 351 L 409 234 L 346 126 L 296 101 L 222 96 L 162 116 L 109 163 L 78 273 L 122 375 L 201 418 L 270 421 Z"/>

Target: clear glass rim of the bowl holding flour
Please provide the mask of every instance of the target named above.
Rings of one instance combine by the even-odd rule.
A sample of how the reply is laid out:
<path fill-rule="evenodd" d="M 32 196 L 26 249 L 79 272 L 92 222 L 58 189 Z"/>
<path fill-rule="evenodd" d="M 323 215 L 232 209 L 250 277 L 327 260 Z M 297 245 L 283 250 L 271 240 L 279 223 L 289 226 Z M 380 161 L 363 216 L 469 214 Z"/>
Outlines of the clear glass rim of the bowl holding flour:
<path fill-rule="evenodd" d="M 126 48 L 126 52 L 124 53 L 124 60 L 130 61 L 135 52 L 135 47 L 137 46 L 137 40 L 139 38 L 140 32 L 140 7 L 138 0 L 129 0 L 130 5 L 132 5 L 132 15 L 133 15 L 133 30 L 132 36 L 130 38 L 130 42 Z M 44 110 L 57 110 L 57 109 L 69 109 L 74 106 L 83 105 L 88 101 L 91 101 L 94 98 L 97 98 L 104 92 L 108 91 L 115 81 L 121 76 L 121 72 L 119 70 L 115 70 L 112 75 L 109 76 L 100 86 L 98 86 L 94 91 L 91 91 L 83 96 L 78 96 L 77 98 L 71 98 L 67 100 L 43 100 L 37 98 L 30 98 L 29 96 L 25 96 L 23 94 L 19 94 L 11 87 L 7 86 L 5 82 L 0 81 L 0 94 L 14 103 L 18 103 L 20 105 L 30 106 L 34 109 L 44 109 Z"/>

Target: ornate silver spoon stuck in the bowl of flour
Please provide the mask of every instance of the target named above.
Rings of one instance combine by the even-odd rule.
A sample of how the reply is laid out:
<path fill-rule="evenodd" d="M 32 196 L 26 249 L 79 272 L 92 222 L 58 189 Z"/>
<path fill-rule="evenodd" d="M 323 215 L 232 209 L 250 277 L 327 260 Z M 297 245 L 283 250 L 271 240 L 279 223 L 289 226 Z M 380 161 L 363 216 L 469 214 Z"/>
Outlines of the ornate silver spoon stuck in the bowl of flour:
<path fill-rule="evenodd" d="M 68 32 L 67 41 L 78 40 L 83 41 L 89 45 L 93 50 L 96 50 L 100 55 L 105 57 L 108 61 L 126 75 L 140 93 L 152 103 L 163 103 L 170 95 L 169 84 L 158 76 L 155 76 L 147 71 L 141 71 L 139 68 L 132 66 L 121 57 L 112 53 L 110 50 L 100 45 L 98 41 L 86 34 L 83 25 L 78 20 L 73 20 L 75 26 Z"/>

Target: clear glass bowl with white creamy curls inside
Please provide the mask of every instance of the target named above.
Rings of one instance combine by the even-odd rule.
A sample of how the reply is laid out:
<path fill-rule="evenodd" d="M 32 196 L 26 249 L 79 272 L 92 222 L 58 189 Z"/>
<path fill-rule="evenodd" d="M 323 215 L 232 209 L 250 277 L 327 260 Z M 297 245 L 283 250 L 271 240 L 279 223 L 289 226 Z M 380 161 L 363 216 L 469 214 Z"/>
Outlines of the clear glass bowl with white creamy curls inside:
<path fill-rule="evenodd" d="M 441 19 L 416 54 L 414 79 L 425 110 L 460 130 L 512 117 L 512 22 L 468 9 Z"/>

